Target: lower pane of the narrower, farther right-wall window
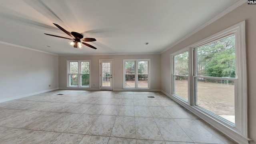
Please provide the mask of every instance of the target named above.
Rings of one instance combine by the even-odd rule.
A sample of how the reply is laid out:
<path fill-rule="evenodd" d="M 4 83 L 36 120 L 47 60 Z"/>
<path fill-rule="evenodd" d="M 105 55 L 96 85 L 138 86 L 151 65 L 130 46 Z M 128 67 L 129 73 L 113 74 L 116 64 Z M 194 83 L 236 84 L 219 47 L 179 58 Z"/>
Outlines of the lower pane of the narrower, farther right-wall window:
<path fill-rule="evenodd" d="M 188 77 L 187 76 L 174 76 L 174 94 L 181 96 L 188 100 Z"/>

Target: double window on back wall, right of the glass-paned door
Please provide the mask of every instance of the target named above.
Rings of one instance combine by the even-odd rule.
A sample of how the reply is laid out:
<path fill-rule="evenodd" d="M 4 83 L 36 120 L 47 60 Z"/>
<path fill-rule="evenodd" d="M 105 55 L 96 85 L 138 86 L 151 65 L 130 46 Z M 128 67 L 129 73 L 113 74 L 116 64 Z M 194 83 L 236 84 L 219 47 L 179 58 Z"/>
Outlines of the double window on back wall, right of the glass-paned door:
<path fill-rule="evenodd" d="M 124 60 L 124 88 L 149 88 L 150 60 Z"/>

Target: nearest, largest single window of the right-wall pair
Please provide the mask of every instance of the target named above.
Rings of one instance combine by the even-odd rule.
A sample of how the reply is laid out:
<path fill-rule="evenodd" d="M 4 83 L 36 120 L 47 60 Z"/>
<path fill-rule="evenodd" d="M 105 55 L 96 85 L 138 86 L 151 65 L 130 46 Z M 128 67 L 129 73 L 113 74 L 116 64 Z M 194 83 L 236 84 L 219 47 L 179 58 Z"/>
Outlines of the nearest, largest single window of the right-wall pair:
<path fill-rule="evenodd" d="M 196 105 L 235 124 L 234 34 L 194 48 Z"/>

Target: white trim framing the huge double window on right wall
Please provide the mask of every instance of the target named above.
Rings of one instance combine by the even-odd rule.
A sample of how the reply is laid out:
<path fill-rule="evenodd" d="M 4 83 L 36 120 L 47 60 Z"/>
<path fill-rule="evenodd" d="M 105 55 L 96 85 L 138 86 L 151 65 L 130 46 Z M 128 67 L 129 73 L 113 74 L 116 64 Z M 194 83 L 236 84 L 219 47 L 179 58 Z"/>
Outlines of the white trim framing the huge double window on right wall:
<path fill-rule="evenodd" d="M 223 120 L 222 118 L 216 117 L 209 112 L 202 110 L 202 108 L 195 106 L 194 102 L 194 92 L 195 86 L 192 82 L 193 74 L 193 48 L 202 46 L 206 43 L 213 42 L 224 38 L 225 36 L 235 34 L 236 35 L 236 74 L 238 78 L 238 86 L 235 92 L 238 96 L 235 100 L 235 115 L 236 115 L 236 126 L 230 124 L 229 122 Z M 218 32 L 208 38 L 205 38 L 195 44 L 192 44 L 178 52 L 170 54 L 170 64 L 171 72 L 173 69 L 172 57 L 178 53 L 182 53 L 188 50 L 189 52 L 189 70 L 190 70 L 190 88 L 188 89 L 188 97 L 191 98 L 188 102 L 180 100 L 179 97 L 173 94 L 173 79 L 171 76 L 171 94 L 170 96 L 180 103 L 182 106 L 186 107 L 188 110 L 192 111 L 194 114 L 198 115 L 200 118 L 235 140 L 240 144 L 248 144 L 250 138 L 248 138 L 248 114 L 247 114 L 247 72 L 246 72 L 246 42 L 245 42 L 245 21 L 235 24 L 221 32 Z"/>

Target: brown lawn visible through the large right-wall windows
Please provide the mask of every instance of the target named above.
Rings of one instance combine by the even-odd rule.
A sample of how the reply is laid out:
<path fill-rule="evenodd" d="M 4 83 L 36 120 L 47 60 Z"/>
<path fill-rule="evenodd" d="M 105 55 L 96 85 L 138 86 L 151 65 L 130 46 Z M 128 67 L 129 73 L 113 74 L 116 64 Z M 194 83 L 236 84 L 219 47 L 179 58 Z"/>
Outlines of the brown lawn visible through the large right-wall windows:
<path fill-rule="evenodd" d="M 188 81 L 176 80 L 175 93 L 188 99 Z M 234 84 L 221 84 L 215 82 L 198 82 L 197 105 L 226 118 L 234 117 Z M 231 119 L 228 119 L 234 122 Z"/>

